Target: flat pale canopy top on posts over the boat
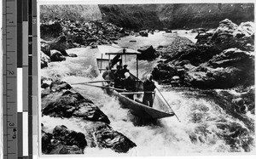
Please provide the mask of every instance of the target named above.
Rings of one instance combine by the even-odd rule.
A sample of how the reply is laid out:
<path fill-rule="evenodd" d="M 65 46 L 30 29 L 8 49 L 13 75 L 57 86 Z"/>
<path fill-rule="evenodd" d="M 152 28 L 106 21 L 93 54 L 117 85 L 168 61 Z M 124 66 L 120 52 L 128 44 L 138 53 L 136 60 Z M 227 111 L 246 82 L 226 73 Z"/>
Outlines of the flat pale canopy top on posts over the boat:
<path fill-rule="evenodd" d="M 141 54 L 140 52 L 131 48 L 122 48 L 116 44 L 112 45 L 98 45 L 98 49 L 102 54 Z"/>

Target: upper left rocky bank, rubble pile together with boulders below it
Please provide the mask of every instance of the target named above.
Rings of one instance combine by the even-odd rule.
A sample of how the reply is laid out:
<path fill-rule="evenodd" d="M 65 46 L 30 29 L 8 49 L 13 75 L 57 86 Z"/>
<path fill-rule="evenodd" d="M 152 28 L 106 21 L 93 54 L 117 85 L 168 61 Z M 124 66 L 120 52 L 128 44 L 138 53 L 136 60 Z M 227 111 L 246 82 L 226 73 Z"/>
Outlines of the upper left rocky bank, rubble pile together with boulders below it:
<path fill-rule="evenodd" d="M 70 20 L 44 21 L 41 31 L 41 68 L 49 62 L 66 60 L 66 57 L 77 57 L 67 54 L 68 48 L 79 48 L 115 43 L 120 37 L 130 35 L 124 28 L 102 21 L 74 22 Z M 47 57 L 47 56 L 48 57 Z"/>

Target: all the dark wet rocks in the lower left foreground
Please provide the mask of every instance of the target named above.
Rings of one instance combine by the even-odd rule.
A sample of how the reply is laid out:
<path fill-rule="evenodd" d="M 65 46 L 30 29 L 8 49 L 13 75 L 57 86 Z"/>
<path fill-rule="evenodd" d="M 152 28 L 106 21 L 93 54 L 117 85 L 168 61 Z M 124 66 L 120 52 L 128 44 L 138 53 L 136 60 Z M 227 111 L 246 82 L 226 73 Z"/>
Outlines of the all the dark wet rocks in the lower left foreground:
<path fill-rule="evenodd" d="M 41 88 L 42 116 L 76 118 L 85 124 L 90 123 L 90 127 L 84 132 L 75 132 L 64 125 L 56 125 L 52 133 L 44 131 L 47 128 L 47 123 L 44 123 L 44 154 L 83 154 L 88 146 L 125 153 L 136 146 L 124 134 L 114 131 L 109 126 L 108 116 L 88 97 L 75 92 L 67 82 L 42 77 Z"/>

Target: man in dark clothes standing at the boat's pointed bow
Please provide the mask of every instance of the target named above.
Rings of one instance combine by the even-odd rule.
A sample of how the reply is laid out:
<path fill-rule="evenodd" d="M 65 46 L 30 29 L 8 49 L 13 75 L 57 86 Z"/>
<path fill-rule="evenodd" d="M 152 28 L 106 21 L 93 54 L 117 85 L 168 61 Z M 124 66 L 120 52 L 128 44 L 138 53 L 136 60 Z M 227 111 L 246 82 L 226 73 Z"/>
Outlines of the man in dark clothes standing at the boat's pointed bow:
<path fill-rule="evenodd" d="M 150 107 L 153 106 L 153 94 L 152 92 L 154 92 L 154 82 L 152 81 L 152 75 L 148 74 L 147 75 L 147 79 L 145 82 L 143 82 L 143 89 L 144 89 L 144 96 L 143 96 L 143 104 L 144 105 L 148 105 Z"/>

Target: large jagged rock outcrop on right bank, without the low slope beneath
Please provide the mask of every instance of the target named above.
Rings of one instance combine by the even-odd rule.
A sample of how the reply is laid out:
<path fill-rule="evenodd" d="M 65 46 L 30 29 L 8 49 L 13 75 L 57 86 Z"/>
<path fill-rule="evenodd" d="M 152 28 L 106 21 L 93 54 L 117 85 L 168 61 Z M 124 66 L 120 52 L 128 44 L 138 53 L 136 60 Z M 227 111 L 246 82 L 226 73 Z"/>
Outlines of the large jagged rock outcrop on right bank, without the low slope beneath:
<path fill-rule="evenodd" d="M 172 86 L 193 88 L 253 85 L 253 22 L 237 26 L 230 20 L 222 20 L 207 36 L 201 37 L 203 39 L 197 37 L 198 43 L 184 44 L 177 49 L 173 43 L 174 49 L 166 55 L 168 59 L 160 61 L 154 68 L 154 79 Z"/>

